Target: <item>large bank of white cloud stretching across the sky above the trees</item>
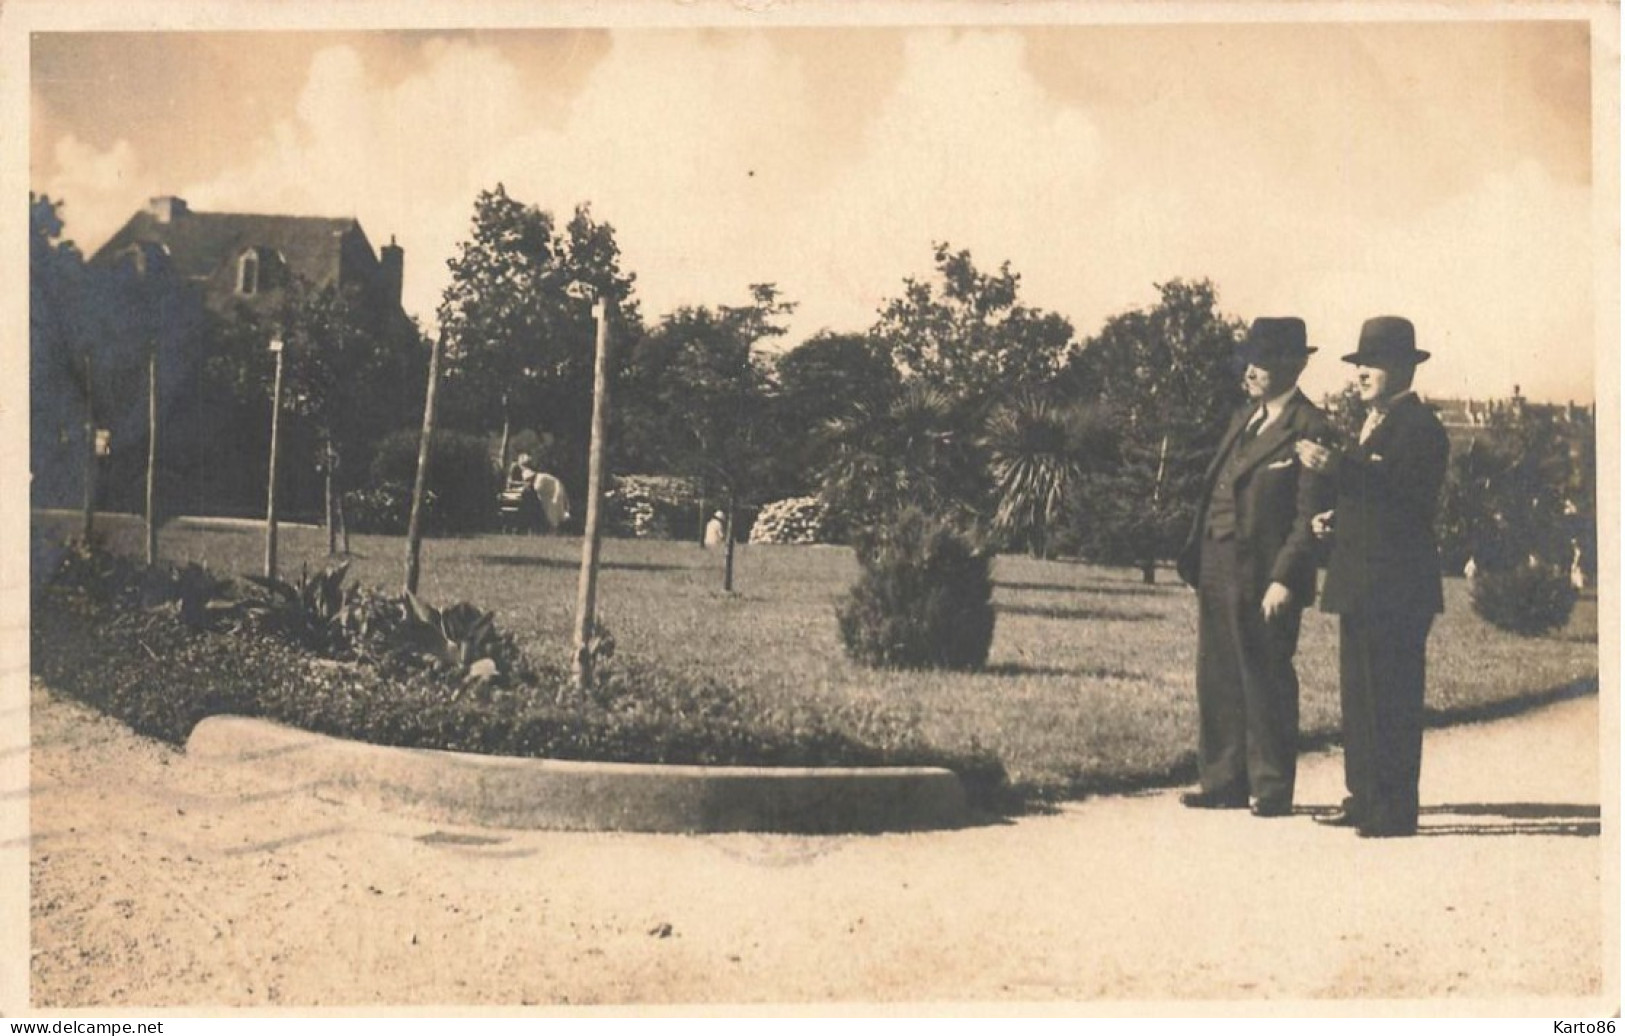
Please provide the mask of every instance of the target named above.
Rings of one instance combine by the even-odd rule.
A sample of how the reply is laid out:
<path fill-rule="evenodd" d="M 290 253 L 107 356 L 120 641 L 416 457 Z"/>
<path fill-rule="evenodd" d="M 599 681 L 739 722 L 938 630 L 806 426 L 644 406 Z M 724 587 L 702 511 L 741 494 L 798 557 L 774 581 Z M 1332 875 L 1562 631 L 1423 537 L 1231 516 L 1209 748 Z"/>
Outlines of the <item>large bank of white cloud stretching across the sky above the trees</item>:
<path fill-rule="evenodd" d="M 648 317 L 775 281 L 803 304 L 791 341 L 860 330 L 949 240 L 1011 260 L 1024 297 L 1081 335 L 1175 276 L 1212 278 L 1245 317 L 1300 313 L 1323 347 L 1315 391 L 1341 383 L 1365 317 L 1399 312 L 1438 356 L 1433 391 L 1589 395 L 1591 195 L 1534 162 L 1373 218 L 1358 182 L 1302 175 L 1224 125 L 1165 114 L 1167 133 L 1120 120 L 1105 136 L 1034 80 L 1012 31 L 907 32 L 897 78 L 838 141 L 822 84 L 754 32 L 618 32 L 574 94 L 535 83 L 491 45 L 427 44 L 392 81 L 332 47 L 288 117 L 206 182 L 177 190 L 141 161 L 158 156 L 63 136 L 46 187 L 88 247 L 159 192 L 354 214 L 375 245 L 406 247 L 405 300 L 424 318 L 474 193 L 500 180 L 561 218 L 592 201 Z"/>

